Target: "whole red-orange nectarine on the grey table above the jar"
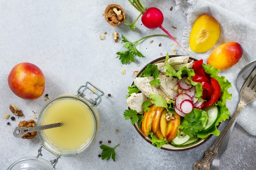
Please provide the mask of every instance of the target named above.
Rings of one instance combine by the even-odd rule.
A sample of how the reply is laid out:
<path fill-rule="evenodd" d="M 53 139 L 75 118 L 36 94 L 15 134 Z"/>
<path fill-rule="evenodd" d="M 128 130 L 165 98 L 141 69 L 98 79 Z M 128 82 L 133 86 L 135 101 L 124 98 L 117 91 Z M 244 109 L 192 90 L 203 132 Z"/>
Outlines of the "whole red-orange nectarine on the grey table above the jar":
<path fill-rule="evenodd" d="M 45 91 L 45 76 L 38 66 L 23 62 L 14 66 L 8 76 L 11 91 L 22 99 L 37 99 Z"/>

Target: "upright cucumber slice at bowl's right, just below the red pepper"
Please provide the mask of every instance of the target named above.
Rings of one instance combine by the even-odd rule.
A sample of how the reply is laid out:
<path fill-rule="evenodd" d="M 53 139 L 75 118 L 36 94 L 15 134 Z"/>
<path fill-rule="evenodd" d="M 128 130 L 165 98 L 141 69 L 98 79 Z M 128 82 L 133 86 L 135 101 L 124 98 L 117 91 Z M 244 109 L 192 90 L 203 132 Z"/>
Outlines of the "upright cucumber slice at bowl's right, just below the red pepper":
<path fill-rule="evenodd" d="M 215 122 L 218 119 L 219 109 L 217 106 L 211 105 L 207 108 L 204 108 L 203 110 L 207 112 L 208 117 L 209 117 L 208 122 L 207 122 L 206 126 L 204 127 L 204 130 L 202 130 L 203 132 L 205 132 L 205 131 L 211 129 L 215 125 Z"/>

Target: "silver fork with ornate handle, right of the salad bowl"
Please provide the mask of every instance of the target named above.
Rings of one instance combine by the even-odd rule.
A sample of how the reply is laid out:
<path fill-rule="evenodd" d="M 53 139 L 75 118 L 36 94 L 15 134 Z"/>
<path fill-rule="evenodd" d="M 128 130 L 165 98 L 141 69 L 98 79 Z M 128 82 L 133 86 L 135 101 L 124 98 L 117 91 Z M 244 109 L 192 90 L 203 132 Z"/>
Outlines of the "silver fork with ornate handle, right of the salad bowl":
<path fill-rule="evenodd" d="M 227 126 L 224 128 L 216 142 L 208 148 L 205 151 L 204 158 L 201 160 L 195 162 L 193 168 L 194 170 L 209 170 L 210 169 L 210 163 L 211 160 L 214 159 L 218 155 L 218 148 L 220 144 L 222 143 L 223 139 L 227 135 L 227 133 L 231 133 L 230 128 L 233 128 L 234 124 L 236 123 L 236 118 L 238 117 L 239 113 L 245 106 L 254 101 L 256 99 L 256 68 L 252 71 L 252 73 L 249 75 L 247 78 L 245 84 L 241 88 L 240 91 L 240 102 L 238 104 L 238 107 L 236 109 L 235 114 L 233 117 L 230 119 L 229 123 Z M 230 129 L 230 130 L 229 130 Z"/>

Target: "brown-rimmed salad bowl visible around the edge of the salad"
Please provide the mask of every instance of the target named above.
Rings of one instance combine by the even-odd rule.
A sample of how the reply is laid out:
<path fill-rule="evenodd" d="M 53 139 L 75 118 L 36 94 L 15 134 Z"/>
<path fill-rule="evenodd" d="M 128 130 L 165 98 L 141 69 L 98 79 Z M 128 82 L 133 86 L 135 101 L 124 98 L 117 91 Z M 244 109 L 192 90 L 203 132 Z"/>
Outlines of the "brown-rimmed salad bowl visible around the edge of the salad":
<path fill-rule="evenodd" d="M 169 57 L 177 57 L 177 56 L 182 56 L 182 55 L 169 55 Z M 194 61 L 197 61 L 196 59 L 192 58 L 192 57 L 189 57 L 189 62 L 191 62 L 192 60 Z M 153 60 L 152 62 L 148 63 L 148 64 L 157 64 L 157 63 L 161 63 L 161 62 L 165 62 L 166 61 L 166 57 L 160 57 L 156 60 Z M 141 73 L 143 73 L 143 71 L 145 70 L 145 68 L 148 66 L 148 64 L 146 66 L 144 66 L 144 68 L 142 68 L 136 75 L 136 77 L 139 77 L 141 75 Z M 227 83 L 229 83 L 227 81 Z M 134 82 L 132 82 L 132 85 L 134 85 Z M 131 85 L 131 86 L 132 86 Z M 230 84 L 231 86 L 231 84 Z M 231 94 L 230 94 L 231 95 Z M 231 99 L 231 98 L 230 98 Z M 226 106 L 225 106 L 226 107 Z M 128 110 L 130 110 L 130 107 L 128 105 Z M 227 109 L 228 110 L 228 109 Z M 228 112 L 228 111 L 227 111 Z M 228 112 L 229 113 L 229 112 Z M 219 113 L 218 113 L 219 114 Z M 125 114 L 124 114 L 125 115 Z M 138 114 L 139 115 L 139 114 Z M 229 115 L 229 114 L 228 114 Z M 226 115 L 225 119 L 228 119 L 228 115 Z M 126 117 L 126 119 L 128 119 Z M 181 118 L 183 119 L 183 117 Z M 224 119 L 224 120 L 225 120 Z M 139 122 L 136 122 L 135 124 L 133 124 L 133 126 L 135 127 L 135 129 L 137 130 L 137 132 L 139 133 L 139 135 L 145 139 L 148 143 L 152 144 L 154 142 L 152 142 L 152 139 L 150 137 L 150 135 L 148 136 L 145 136 L 141 127 L 139 126 Z M 219 125 L 218 125 L 219 126 Z M 218 128 L 218 126 L 216 128 Z M 203 138 L 203 139 L 198 139 L 197 141 L 193 142 L 192 144 L 189 144 L 188 146 L 184 145 L 184 146 L 178 146 L 176 147 L 175 145 L 171 145 L 171 144 L 164 144 L 162 145 L 161 147 L 158 146 L 158 148 L 161 148 L 161 149 L 164 149 L 164 150 L 170 150 L 170 151 L 183 151 L 183 150 L 189 150 L 189 149 L 192 149 L 192 148 L 195 148 L 195 147 L 198 147 L 200 145 L 202 145 L 204 142 L 206 142 L 208 139 L 210 139 L 212 137 L 212 134 Z M 155 144 L 153 144 L 155 145 Z"/>

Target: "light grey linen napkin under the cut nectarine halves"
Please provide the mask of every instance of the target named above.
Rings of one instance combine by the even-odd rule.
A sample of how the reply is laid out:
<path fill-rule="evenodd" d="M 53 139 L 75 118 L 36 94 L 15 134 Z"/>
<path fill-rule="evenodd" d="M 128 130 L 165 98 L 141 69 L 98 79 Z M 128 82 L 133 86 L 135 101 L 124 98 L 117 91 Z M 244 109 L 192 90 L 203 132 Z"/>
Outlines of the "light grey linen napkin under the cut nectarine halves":
<path fill-rule="evenodd" d="M 243 56 L 239 62 L 219 75 L 225 76 L 232 84 L 229 93 L 233 97 L 227 100 L 230 116 L 234 115 L 239 102 L 236 90 L 236 77 L 239 71 L 249 62 L 256 60 L 256 1 L 254 0 L 175 0 L 176 10 L 183 10 L 187 18 L 184 28 L 182 46 L 188 49 L 196 59 L 203 59 L 207 63 L 211 51 L 226 42 L 238 42 L 243 48 Z M 213 16 L 220 24 L 220 38 L 207 52 L 195 53 L 190 50 L 189 36 L 193 23 L 202 13 Z M 256 101 L 247 104 L 236 121 L 252 135 L 256 135 Z"/>

